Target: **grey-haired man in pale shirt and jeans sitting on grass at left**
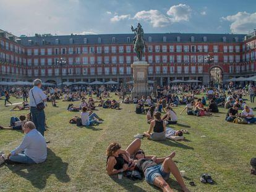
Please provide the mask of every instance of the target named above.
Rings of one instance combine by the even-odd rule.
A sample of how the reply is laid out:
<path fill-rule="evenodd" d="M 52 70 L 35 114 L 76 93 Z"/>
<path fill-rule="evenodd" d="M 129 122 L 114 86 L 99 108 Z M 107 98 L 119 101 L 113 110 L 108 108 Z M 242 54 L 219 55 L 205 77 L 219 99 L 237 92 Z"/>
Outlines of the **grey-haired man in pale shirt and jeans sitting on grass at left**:
<path fill-rule="evenodd" d="M 23 126 L 26 134 L 22 143 L 7 156 L 13 162 L 23 164 L 39 164 L 47 157 L 47 146 L 45 138 L 35 128 L 33 122 L 27 122 Z"/>

